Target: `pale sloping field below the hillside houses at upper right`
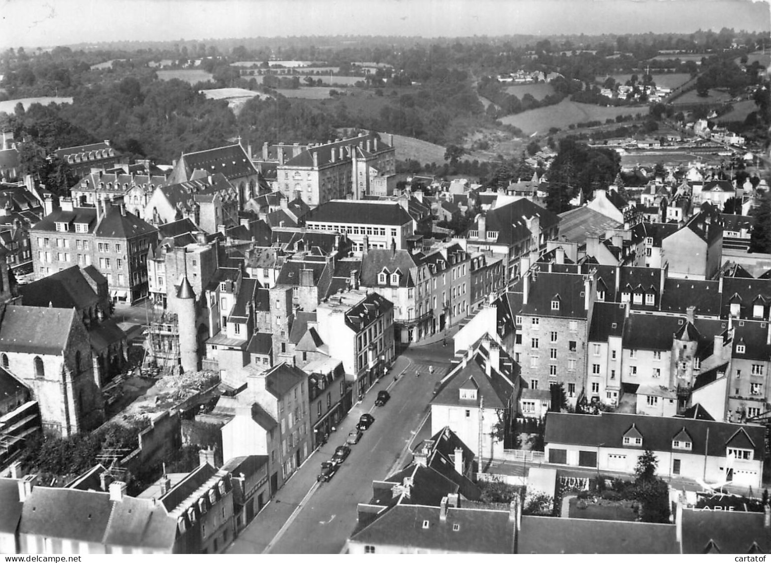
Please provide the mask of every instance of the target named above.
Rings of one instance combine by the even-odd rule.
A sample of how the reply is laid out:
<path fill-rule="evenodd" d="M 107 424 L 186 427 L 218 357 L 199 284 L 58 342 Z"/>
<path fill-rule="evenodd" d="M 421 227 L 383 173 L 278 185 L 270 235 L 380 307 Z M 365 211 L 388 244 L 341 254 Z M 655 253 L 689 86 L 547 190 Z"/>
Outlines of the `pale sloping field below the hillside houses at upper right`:
<path fill-rule="evenodd" d="M 503 117 L 500 122 L 513 125 L 522 130 L 523 133 L 530 135 L 532 133 L 547 133 L 550 127 L 567 129 L 571 123 L 584 123 L 586 121 L 604 123 L 608 118 L 634 116 L 638 113 L 647 115 L 648 106 L 604 107 L 563 99 L 556 106 L 527 110 L 523 113 L 517 113 L 517 115 Z"/>

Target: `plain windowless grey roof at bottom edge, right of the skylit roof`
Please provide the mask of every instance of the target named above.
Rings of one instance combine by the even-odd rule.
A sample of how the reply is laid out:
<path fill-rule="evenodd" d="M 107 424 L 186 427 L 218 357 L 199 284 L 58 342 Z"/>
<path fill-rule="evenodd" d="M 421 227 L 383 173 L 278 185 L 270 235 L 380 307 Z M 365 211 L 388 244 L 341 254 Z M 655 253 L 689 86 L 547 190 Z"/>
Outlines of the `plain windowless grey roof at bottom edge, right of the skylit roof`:
<path fill-rule="evenodd" d="M 547 516 L 522 517 L 517 551 L 521 554 L 679 553 L 673 524 Z"/>

